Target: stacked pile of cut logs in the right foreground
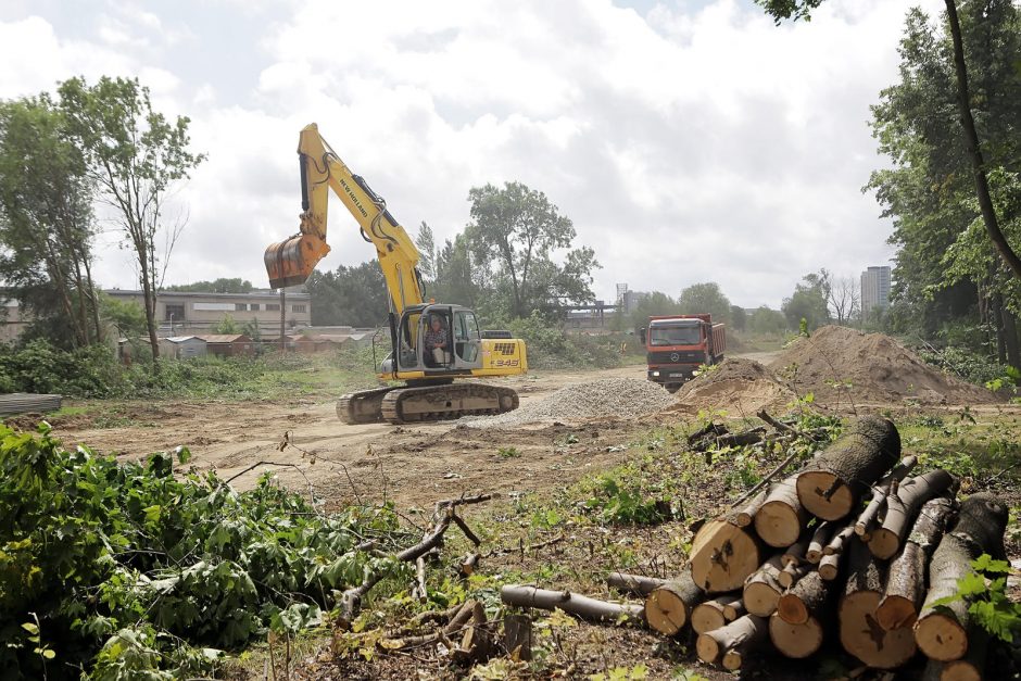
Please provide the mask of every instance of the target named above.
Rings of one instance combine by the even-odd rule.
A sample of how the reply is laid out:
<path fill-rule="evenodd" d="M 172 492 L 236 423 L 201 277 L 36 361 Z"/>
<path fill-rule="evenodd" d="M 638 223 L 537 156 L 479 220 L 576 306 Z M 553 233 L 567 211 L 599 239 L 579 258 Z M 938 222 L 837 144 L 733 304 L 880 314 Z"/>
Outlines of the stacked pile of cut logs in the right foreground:
<path fill-rule="evenodd" d="M 953 475 L 911 477 L 916 463 L 902 458 L 893 423 L 864 418 L 797 472 L 705 522 L 677 578 L 609 576 L 644 608 L 530 587 L 501 595 L 591 621 L 644 619 L 670 636 L 691 630 L 698 657 L 729 670 L 769 646 L 809 657 L 829 638 L 868 667 L 897 669 L 921 652 L 927 680 L 981 679 L 985 638 L 967 604 L 933 604 L 957 593 L 980 555 L 1005 557 L 1008 510 L 986 493 L 958 502 Z"/>

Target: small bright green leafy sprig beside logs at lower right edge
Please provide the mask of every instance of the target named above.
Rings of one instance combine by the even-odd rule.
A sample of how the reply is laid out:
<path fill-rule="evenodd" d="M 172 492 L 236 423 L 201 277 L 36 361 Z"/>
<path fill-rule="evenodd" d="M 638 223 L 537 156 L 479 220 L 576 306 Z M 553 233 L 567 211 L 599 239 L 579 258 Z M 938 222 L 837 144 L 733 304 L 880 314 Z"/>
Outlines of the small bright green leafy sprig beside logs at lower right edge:
<path fill-rule="evenodd" d="M 971 567 L 974 572 L 958 580 L 957 593 L 933 605 L 940 607 L 965 601 L 968 613 L 980 627 L 1000 641 L 1012 643 L 1014 634 L 1021 631 L 1021 603 L 1013 603 L 1007 596 L 1010 564 L 982 554 L 971 562 Z"/>

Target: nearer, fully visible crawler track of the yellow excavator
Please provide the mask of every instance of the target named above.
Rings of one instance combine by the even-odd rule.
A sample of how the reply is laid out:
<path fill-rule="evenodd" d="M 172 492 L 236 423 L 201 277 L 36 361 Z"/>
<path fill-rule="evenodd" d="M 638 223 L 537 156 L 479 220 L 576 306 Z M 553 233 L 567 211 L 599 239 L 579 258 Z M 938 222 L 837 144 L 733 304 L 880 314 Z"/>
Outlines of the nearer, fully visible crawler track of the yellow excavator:
<path fill-rule="evenodd" d="M 395 388 L 382 395 L 382 419 L 391 424 L 445 420 L 462 416 L 502 414 L 518 407 L 512 388 L 487 383 L 452 383 Z"/>

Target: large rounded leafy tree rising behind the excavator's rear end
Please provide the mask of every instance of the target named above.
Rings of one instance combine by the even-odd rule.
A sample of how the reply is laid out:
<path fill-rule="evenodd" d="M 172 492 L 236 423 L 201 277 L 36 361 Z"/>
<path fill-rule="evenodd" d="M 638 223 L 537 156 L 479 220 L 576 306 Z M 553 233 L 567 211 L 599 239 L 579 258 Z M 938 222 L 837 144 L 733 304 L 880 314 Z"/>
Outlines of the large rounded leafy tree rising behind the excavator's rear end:
<path fill-rule="evenodd" d="M 484 270 L 481 276 L 492 277 L 495 291 L 507 298 L 513 317 L 594 298 L 592 270 L 600 266 L 595 252 L 589 247 L 571 249 L 575 226 L 543 192 L 520 182 L 507 182 L 503 189 L 486 185 L 471 189 L 468 200 L 466 245 L 474 265 Z M 554 262 L 554 252 L 563 250 L 567 252 L 562 262 Z"/>

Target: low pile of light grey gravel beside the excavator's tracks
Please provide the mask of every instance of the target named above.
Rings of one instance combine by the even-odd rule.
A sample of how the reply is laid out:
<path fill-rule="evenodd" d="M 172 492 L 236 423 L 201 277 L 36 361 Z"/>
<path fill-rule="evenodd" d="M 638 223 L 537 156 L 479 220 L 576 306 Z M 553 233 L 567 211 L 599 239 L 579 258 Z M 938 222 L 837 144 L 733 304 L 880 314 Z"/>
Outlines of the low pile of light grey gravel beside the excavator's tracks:
<path fill-rule="evenodd" d="M 673 396 L 651 381 L 633 378 L 604 378 L 566 386 L 550 395 L 496 416 L 462 419 L 472 428 L 513 428 L 551 420 L 579 420 L 616 416 L 632 418 L 667 408 Z"/>

